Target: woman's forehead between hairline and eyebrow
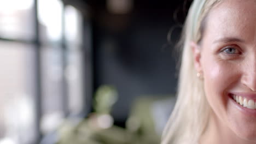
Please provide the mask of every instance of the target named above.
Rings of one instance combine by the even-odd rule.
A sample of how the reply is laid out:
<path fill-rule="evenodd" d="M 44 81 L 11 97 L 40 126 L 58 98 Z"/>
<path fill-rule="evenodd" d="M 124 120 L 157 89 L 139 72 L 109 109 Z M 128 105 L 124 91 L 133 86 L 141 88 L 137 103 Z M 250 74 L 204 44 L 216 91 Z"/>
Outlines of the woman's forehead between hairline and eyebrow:
<path fill-rule="evenodd" d="M 255 0 L 224 0 L 208 14 L 204 33 L 206 38 L 242 37 L 246 41 L 254 41 L 255 35 Z"/>

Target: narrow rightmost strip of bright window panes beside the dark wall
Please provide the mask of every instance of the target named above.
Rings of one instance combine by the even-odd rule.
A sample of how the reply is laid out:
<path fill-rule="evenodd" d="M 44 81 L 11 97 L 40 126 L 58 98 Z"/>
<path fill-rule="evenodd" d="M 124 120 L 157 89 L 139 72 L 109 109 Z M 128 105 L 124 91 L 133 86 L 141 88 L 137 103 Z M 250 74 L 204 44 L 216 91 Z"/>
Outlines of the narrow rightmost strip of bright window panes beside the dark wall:
<path fill-rule="evenodd" d="M 68 83 L 68 109 L 71 115 L 83 111 L 83 50 L 82 14 L 71 5 L 65 8 L 65 35 L 67 45 L 67 68 L 65 76 Z"/>

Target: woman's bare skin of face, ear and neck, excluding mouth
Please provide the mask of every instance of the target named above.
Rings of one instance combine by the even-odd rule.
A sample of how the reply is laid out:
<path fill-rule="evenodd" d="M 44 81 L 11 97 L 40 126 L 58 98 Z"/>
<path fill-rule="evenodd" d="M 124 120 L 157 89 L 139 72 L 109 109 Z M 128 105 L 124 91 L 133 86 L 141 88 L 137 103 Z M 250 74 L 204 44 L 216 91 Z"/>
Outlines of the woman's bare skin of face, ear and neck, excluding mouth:
<path fill-rule="evenodd" d="M 201 43 L 191 42 L 212 109 L 200 143 L 256 143 L 256 117 L 229 97 L 243 92 L 256 99 L 255 14 L 254 0 L 224 0 L 210 10 Z"/>

